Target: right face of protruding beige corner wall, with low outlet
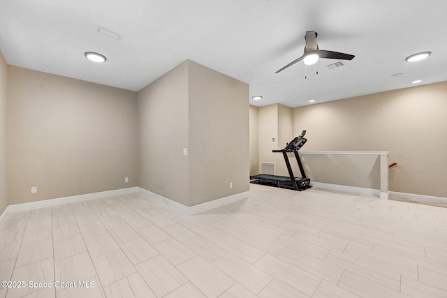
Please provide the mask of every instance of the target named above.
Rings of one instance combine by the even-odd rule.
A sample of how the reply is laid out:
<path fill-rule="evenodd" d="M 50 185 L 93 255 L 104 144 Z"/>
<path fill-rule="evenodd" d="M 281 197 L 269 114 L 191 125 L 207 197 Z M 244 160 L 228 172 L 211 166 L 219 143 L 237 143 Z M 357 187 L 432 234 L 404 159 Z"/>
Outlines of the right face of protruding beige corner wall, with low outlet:
<path fill-rule="evenodd" d="M 248 98 L 248 84 L 189 61 L 191 206 L 249 191 Z"/>

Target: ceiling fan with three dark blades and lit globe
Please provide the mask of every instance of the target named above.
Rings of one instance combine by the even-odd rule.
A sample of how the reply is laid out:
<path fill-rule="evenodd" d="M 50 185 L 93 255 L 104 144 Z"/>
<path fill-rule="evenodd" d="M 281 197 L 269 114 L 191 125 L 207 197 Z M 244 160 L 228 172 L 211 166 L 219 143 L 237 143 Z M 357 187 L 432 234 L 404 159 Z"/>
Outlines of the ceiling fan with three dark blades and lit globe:
<path fill-rule="evenodd" d="M 305 52 L 302 54 L 302 56 L 291 63 L 287 64 L 283 68 L 277 70 L 275 73 L 279 73 L 282 70 L 293 66 L 293 64 L 304 60 L 306 65 L 312 65 L 315 64 L 316 61 L 318 61 L 319 58 L 326 58 L 326 59 L 339 59 L 339 60 L 352 60 L 354 55 L 351 54 L 345 54 L 340 52 L 332 52 L 332 51 L 326 51 L 326 50 L 320 50 L 318 49 L 318 44 L 316 43 L 316 36 L 318 36 L 318 33 L 315 31 L 307 31 L 305 40 L 306 40 L 306 46 L 305 46 Z"/>

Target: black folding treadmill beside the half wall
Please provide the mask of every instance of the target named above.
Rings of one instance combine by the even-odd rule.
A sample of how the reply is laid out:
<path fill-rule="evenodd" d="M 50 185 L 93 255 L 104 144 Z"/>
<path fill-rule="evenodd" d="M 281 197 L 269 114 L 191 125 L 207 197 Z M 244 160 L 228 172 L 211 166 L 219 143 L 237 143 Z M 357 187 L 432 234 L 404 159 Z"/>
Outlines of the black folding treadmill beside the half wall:
<path fill-rule="evenodd" d="M 305 138 L 306 131 L 302 131 L 301 135 L 295 137 L 291 142 L 286 144 L 284 149 L 280 150 L 272 150 L 272 152 L 282 152 L 284 156 L 284 161 L 286 161 L 287 170 L 289 176 L 277 176 L 270 174 L 257 174 L 251 176 L 251 183 L 254 184 L 264 184 L 268 186 L 276 186 L 281 188 L 289 188 L 295 191 L 304 191 L 307 188 L 312 187 L 310 185 L 310 179 L 306 177 L 305 169 L 302 167 L 300 156 L 298 155 L 298 150 L 307 142 Z M 300 167 L 301 177 L 295 177 L 293 175 L 293 170 L 291 167 L 291 163 L 288 161 L 288 153 L 295 154 L 296 161 L 298 163 L 298 167 Z"/>

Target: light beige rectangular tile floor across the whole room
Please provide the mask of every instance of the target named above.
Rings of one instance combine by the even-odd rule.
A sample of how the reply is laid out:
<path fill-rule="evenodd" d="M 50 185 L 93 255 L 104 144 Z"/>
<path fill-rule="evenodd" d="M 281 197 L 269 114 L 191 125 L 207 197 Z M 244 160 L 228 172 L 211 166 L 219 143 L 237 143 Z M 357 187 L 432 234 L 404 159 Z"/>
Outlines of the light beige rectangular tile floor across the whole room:
<path fill-rule="evenodd" d="M 447 297 L 447 209 L 251 185 L 187 216 L 120 195 L 8 214 L 0 281 L 24 286 L 0 298 Z"/>

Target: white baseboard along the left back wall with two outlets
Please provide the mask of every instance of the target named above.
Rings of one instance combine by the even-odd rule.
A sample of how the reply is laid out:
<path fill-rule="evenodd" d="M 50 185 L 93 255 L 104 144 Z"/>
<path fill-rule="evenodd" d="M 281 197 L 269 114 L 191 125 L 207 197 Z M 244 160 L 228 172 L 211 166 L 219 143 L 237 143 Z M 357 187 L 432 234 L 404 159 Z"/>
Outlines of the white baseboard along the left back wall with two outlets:
<path fill-rule="evenodd" d="M 94 200 L 98 198 L 107 198 L 112 197 L 114 195 L 126 195 L 129 193 L 137 193 L 137 192 L 138 187 L 130 187 L 130 188 L 116 189 L 114 191 L 101 191 L 98 193 L 86 193 L 85 195 L 72 195 L 70 197 L 64 197 L 64 198 L 56 198 L 56 199 L 42 200 L 22 204 L 13 204 L 6 207 L 6 210 L 3 212 L 3 214 L 7 214 L 10 212 L 27 211 L 31 209 L 38 209 L 44 207 L 52 207 L 61 204 Z"/>

